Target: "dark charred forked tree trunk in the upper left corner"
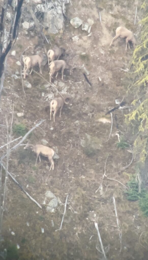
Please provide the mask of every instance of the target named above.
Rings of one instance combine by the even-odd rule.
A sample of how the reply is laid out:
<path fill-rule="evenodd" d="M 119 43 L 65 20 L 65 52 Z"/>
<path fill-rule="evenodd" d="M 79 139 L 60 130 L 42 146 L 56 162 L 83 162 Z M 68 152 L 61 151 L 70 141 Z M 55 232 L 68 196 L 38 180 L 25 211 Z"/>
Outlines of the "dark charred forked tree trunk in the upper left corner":
<path fill-rule="evenodd" d="M 1 22 L 0 22 L 0 96 L 1 96 L 3 83 L 4 83 L 5 61 L 7 58 L 7 54 L 14 46 L 14 43 L 17 39 L 23 1 L 24 0 L 16 0 L 15 15 L 9 31 L 9 38 L 5 49 L 3 43 L 4 43 L 4 30 L 5 30 L 8 0 L 4 0 L 2 6 L 2 14 L 1 14 Z"/>

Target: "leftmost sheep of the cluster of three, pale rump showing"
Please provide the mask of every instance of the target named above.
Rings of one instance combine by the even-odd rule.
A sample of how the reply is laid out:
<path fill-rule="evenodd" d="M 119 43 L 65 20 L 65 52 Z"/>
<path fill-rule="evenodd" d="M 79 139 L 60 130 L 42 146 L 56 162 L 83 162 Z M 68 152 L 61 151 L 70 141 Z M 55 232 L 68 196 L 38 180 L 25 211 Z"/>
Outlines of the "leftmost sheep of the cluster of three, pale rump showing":
<path fill-rule="evenodd" d="M 42 74 L 41 71 L 41 63 L 44 59 L 44 54 L 40 53 L 40 54 L 36 54 L 36 55 L 32 55 L 32 56 L 27 56 L 24 57 L 23 56 L 23 62 L 24 62 L 24 79 L 26 78 L 26 72 L 28 69 L 30 69 L 30 67 L 34 67 L 35 65 L 39 64 L 39 68 L 40 68 L 40 73 Z M 30 74 L 32 73 L 32 69 Z"/>

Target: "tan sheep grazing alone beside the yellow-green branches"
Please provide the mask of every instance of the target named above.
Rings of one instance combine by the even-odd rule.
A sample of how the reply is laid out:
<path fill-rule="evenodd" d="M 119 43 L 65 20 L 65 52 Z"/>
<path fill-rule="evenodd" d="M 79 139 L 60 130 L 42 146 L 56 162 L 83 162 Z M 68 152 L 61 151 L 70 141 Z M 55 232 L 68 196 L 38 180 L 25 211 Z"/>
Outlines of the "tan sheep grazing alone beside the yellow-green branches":
<path fill-rule="evenodd" d="M 126 38 L 126 49 L 125 50 L 127 50 L 127 44 L 128 44 L 128 48 L 130 49 L 130 45 L 129 45 L 128 41 L 131 41 L 133 43 L 133 46 L 135 47 L 136 40 L 134 38 L 134 34 L 132 33 L 132 31 L 126 29 L 125 27 L 121 27 L 121 26 L 116 29 L 116 36 L 112 39 L 110 46 L 112 45 L 113 41 L 115 39 L 117 39 L 119 36 L 121 38 Z"/>

